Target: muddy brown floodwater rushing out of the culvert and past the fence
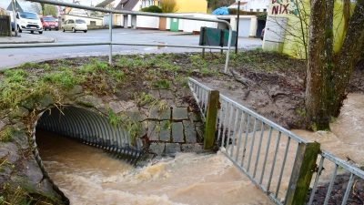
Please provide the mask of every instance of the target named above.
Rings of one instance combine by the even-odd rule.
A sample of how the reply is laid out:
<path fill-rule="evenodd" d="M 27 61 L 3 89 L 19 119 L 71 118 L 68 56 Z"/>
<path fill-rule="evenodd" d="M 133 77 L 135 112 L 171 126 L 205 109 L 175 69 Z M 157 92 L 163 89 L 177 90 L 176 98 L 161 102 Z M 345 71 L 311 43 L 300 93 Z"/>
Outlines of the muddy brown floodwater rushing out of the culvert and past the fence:
<path fill-rule="evenodd" d="M 364 96 L 350 94 L 344 103 L 332 132 L 292 131 L 319 141 L 340 159 L 363 162 Z M 102 149 L 43 130 L 36 130 L 36 143 L 45 168 L 71 204 L 273 204 L 222 153 L 179 153 L 135 169 Z"/>

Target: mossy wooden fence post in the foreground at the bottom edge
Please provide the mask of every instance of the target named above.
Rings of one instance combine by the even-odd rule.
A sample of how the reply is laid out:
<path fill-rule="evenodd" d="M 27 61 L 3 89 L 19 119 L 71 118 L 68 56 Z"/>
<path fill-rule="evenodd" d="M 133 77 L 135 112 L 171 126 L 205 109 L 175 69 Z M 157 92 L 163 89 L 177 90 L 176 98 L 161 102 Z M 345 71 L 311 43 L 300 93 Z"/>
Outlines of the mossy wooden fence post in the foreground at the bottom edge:
<path fill-rule="evenodd" d="M 309 183 L 319 155 L 318 142 L 300 143 L 284 204 L 305 204 Z"/>

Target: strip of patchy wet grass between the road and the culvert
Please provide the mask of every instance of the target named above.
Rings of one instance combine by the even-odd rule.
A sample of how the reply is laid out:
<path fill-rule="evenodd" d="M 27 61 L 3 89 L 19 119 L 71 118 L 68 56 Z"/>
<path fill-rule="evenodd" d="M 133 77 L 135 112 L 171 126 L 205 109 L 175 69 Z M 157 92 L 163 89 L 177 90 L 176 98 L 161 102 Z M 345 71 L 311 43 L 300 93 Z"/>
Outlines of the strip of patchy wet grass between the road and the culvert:
<path fill-rule="evenodd" d="M 303 62 L 261 49 L 231 53 L 229 68 L 244 71 L 274 72 L 304 68 Z M 0 109 L 21 106 L 29 98 L 39 98 L 55 90 L 69 90 L 76 85 L 88 93 L 121 95 L 146 92 L 143 82 L 157 88 L 170 88 L 173 80 L 186 86 L 185 78 L 218 77 L 225 66 L 225 54 L 199 53 L 146 54 L 113 56 L 114 66 L 107 56 L 56 59 L 41 63 L 25 63 L 15 69 L 0 71 Z M 62 94 L 59 94 L 62 95 Z"/>

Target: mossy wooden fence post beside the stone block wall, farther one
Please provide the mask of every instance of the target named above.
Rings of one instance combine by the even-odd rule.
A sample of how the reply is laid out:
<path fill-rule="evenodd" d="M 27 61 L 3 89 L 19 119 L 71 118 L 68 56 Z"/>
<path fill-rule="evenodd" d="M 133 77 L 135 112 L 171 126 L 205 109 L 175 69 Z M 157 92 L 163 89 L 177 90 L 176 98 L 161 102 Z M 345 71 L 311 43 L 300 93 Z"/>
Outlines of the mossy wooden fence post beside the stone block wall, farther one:
<path fill-rule="evenodd" d="M 219 95 L 217 90 L 208 92 L 204 149 L 212 149 L 214 146 Z"/>

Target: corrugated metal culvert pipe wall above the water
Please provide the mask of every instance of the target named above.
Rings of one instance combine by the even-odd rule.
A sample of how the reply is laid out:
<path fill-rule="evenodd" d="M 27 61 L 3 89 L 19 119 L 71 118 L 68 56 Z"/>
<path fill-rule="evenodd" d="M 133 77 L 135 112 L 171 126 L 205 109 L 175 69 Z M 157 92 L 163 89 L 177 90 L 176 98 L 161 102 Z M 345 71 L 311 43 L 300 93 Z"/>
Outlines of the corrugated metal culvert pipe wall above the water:
<path fill-rule="evenodd" d="M 105 116 L 86 108 L 70 106 L 47 109 L 38 119 L 36 128 L 106 149 L 130 163 L 136 163 L 136 159 L 143 153 L 140 138 L 136 138 L 136 145 L 133 146 L 126 128 L 120 125 L 114 128 Z"/>

